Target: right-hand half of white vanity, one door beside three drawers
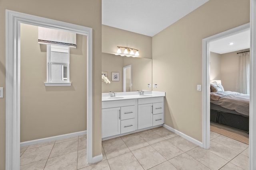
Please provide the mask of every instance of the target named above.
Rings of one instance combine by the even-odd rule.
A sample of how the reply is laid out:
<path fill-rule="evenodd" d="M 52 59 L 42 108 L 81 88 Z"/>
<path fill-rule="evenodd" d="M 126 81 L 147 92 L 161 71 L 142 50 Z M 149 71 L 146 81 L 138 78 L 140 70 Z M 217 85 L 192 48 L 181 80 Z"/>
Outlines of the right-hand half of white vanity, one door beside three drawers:
<path fill-rule="evenodd" d="M 164 123 L 164 97 L 138 99 L 138 129 Z"/>

